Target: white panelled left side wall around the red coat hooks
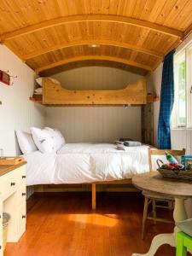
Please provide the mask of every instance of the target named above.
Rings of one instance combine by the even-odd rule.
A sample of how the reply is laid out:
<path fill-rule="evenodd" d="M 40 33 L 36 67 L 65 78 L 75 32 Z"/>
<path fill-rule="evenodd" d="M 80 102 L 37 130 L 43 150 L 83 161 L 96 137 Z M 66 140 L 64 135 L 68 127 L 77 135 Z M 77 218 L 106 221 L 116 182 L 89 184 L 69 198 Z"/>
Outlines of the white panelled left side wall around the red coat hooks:
<path fill-rule="evenodd" d="M 17 76 L 12 86 L 0 83 L 0 148 L 4 155 L 19 154 L 15 130 L 29 131 L 44 125 L 44 108 L 29 101 L 34 88 L 34 72 L 5 46 L 0 45 L 0 70 Z"/>

